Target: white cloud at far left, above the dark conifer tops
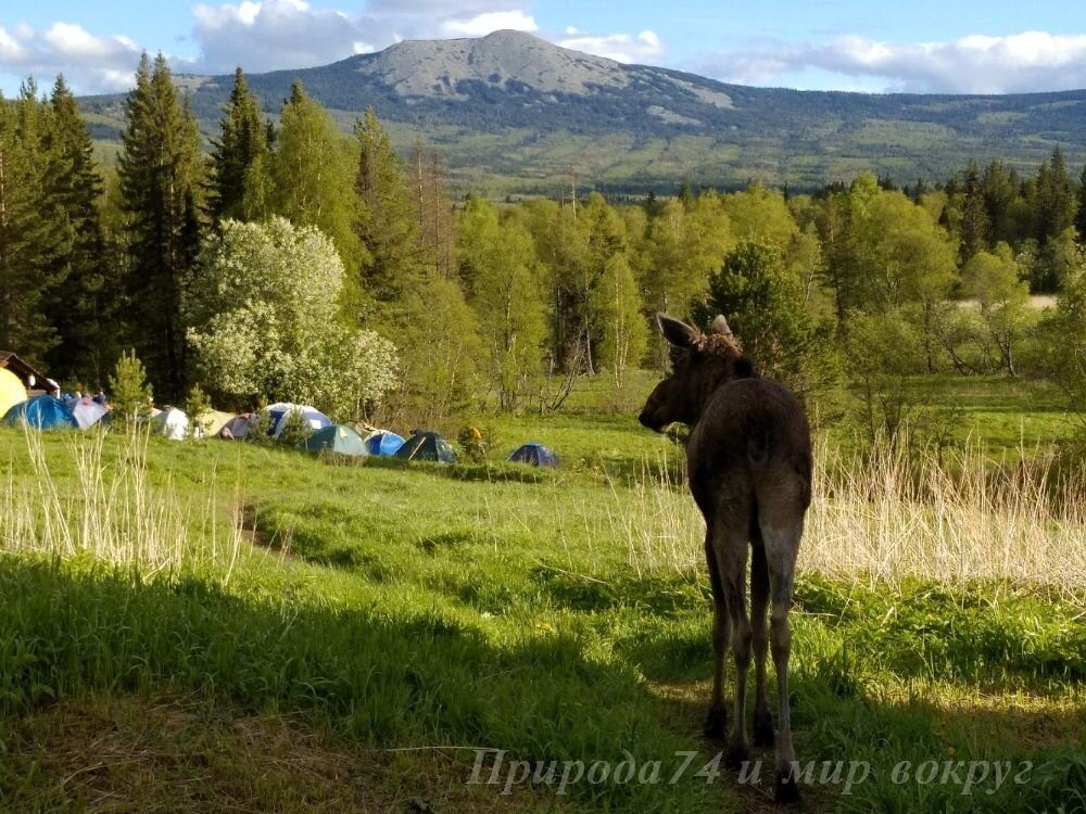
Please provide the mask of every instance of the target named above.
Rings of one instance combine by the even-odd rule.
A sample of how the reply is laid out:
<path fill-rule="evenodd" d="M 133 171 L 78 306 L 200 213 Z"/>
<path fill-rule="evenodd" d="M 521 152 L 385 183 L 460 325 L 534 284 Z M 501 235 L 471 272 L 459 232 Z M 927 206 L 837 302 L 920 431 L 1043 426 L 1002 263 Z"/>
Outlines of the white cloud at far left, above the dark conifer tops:
<path fill-rule="evenodd" d="M 63 73 L 78 92 L 109 92 L 131 87 L 140 49 L 122 35 L 90 34 L 58 22 L 42 31 L 20 24 L 0 27 L 0 72 L 31 75 L 43 82 Z"/>

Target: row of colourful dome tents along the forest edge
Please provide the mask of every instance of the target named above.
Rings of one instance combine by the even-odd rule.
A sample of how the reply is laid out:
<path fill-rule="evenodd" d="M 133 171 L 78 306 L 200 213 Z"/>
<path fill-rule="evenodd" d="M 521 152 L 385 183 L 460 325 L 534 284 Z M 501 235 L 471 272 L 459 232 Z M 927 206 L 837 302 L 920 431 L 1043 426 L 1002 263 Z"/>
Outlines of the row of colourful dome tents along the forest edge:
<path fill-rule="evenodd" d="M 0 370 L 0 374 L 7 371 Z M 63 402 L 49 395 L 26 397 L 22 383 L 7 381 L 0 376 L 0 409 L 3 410 L 3 422 L 10 425 L 25 424 L 39 430 L 80 429 L 102 422 L 109 423 L 109 410 L 89 396 Z M 456 451 L 445 438 L 438 433 L 416 430 L 404 438 L 390 430 L 372 430 L 365 437 L 353 427 L 332 423 L 326 415 L 310 405 L 280 402 L 269 405 L 260 414 L 233 415 L 211 410 L 200 417 L 198 427 L 192 433 L 197 437 L 219 437 L 225 440 L 242 440 L 257 422 L 267 416 L 267 433 L 280 438 L 292 416 L 300 417 L 307 432 L 305 440 L 299 445 L 301 449 L 311 453 L 331 453 L 343 456 L 377 456 L 395 457 L 405 460 L 429 460 L 452 463 L 456 460 Z M 295 419 L 296 420 L 296 419 Z M 152 432 L 167 438 L 180 441 L 190 435 L 189 417 L 176 407 L 152 410 L 150 417 Z M 530 463 L 536 467 L 556 467 L 558 457 L 542 444 L 523 444 L 509 456 L 510 461 Z"/>

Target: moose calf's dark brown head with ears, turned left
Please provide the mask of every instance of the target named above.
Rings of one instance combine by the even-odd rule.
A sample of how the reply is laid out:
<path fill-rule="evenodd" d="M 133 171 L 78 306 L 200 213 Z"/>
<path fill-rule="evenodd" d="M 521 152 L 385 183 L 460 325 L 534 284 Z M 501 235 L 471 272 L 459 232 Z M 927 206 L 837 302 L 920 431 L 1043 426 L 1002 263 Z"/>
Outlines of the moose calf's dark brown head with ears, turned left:
<path fill-rule="evenodd" d="M 708 334 L 664 314 L 656 321 L 671 345 L 671 374 L 656 385 L 637 419 L 649 430 L 667 432 L 675 422 L 694 425 L 717 387 L 755 374 L 723 316 L 712 320 Z"/>

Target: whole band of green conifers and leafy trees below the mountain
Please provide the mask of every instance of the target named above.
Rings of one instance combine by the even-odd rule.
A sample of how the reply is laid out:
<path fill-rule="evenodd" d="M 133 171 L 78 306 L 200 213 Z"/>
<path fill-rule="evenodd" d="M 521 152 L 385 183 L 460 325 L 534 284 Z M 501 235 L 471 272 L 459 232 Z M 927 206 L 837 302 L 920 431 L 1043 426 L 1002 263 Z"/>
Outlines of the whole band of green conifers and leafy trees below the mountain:
<path fill-rule="evenodd" d="M 424 421 L 555 409 L 584 374 L 621 390 L 667 364 L 653 314 L 721 311 L 767 372 L 828 403 L 850 384 L 893 428 L 887 377 L 1039 369 L 1056 317 L 1031 290 L 1066 310 L 1082 285 L 1086 168 L 1059 149 L 1031 177 L 970 163 L 935 188 L 496 204 L 454 201 L 440 155 L 401 156 L 372 111 L 345 136 L 295 84 L 276 113 L 239 68 L 205 150 L 144 55 L 103 166 L 63 77 L 4 100 L 0 346 L 85 386 L 134 348 L 160 400 Z"/>

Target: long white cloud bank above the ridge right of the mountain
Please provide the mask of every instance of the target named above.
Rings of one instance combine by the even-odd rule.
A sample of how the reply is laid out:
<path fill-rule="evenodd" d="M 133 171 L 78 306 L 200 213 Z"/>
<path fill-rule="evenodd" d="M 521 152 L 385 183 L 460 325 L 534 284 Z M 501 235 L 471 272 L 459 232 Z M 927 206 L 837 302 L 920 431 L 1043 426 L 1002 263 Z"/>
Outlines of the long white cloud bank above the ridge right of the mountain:
<path fill-rule="evenodd" d="M 758 42 L 721 52 L 690 67 L 724 81 L 799 86 L 818 76 L 822 88 L 862 79 L 882 90 L 1015 93 L 1086 87 L 1086 35 L 1023 31 L 971 35 L 949 42 L 885 42 L 858 36 L 829 43 Z"/>

